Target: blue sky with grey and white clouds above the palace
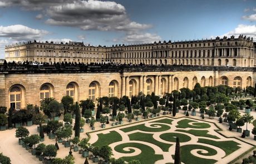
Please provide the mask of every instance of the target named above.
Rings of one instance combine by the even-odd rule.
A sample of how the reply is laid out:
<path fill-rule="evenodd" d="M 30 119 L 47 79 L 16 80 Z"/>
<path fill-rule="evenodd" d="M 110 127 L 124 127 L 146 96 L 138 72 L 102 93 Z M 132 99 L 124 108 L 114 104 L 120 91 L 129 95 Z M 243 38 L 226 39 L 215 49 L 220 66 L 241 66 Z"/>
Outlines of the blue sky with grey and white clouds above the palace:
<path fill-rule="evenodd" d="M 93 46 L 239 36 L 256 41 L 256 0 L 0 0 L 0 58 L 7 44 Z"/>

